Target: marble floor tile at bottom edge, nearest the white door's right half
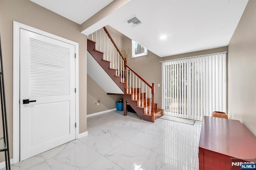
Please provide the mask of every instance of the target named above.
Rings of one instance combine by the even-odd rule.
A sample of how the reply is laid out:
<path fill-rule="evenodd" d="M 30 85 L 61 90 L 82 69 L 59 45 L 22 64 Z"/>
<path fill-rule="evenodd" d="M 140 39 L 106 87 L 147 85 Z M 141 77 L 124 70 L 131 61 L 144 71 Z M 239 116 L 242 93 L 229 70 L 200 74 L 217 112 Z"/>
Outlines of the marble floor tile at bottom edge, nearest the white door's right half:
<path fill-rule="evenodd" d="M 101 156 L 86 144 L 82 144 L 46 161 L 52 170 L 82 170 Z"/>

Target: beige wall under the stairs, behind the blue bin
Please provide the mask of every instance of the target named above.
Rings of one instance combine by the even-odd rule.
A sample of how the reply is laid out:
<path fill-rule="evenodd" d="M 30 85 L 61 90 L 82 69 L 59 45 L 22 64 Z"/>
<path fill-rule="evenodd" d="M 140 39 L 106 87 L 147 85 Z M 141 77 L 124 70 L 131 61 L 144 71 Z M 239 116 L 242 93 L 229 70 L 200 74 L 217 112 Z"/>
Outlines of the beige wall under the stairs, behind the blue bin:
<path fill-rule="evenodd" d="M 87 115 L 116 108 L 116 102 L 122 96 L 107 95 L 89 75 L 87 75 Z M 100 100 L 100 105 L 97 101 Z"/>

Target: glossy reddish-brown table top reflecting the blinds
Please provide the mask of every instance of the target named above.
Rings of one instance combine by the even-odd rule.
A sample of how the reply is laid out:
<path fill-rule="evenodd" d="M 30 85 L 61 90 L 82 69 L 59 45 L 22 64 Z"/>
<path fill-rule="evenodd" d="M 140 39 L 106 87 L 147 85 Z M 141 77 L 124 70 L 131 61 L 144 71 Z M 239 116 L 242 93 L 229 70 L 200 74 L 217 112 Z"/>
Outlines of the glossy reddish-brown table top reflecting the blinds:
<path fill-rule="evenodd" d="M 251 160 L 256 158 L 256 137 L 240 121 L 204 116 L 199 148 Z"/>

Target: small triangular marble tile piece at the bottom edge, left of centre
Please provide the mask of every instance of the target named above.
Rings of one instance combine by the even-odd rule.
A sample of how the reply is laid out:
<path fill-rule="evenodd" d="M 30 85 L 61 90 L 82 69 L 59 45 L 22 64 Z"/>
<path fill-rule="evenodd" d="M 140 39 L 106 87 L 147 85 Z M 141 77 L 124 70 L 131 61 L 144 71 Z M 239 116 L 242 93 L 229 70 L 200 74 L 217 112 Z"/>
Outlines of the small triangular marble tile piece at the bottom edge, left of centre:
<path fill-rule="evenodd" d="M 114 164 L 104 156 L 86 166 L 83 170 L 124 170 L 117 164 Z"/>

